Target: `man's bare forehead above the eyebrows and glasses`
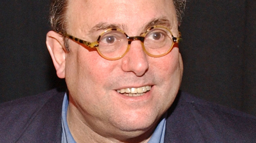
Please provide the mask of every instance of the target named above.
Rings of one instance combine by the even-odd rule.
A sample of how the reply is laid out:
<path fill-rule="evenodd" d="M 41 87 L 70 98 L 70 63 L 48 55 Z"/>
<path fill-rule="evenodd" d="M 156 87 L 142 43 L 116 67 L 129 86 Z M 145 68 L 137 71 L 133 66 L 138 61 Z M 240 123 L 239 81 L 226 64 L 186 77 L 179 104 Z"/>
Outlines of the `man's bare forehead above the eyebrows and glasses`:
<path fill-rule="evenodd" d="M 172 0 L 70 0 L 67 8 L 67 30 L 72 33 L 86 33 L 104 24 L 135 34 L 158 19 L 177 27 Z"/>

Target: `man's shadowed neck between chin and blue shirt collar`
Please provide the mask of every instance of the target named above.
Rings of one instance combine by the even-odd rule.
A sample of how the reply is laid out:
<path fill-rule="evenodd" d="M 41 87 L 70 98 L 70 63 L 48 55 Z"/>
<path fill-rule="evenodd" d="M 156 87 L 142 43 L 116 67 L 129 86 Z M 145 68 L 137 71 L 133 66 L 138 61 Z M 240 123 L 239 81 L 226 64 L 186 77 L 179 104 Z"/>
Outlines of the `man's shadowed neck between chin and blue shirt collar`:
<path fill-rule="evenodd" d="M 146 143 L 149 141 L 157 124 L 146 131 L 121 131 L 100 122 L 91 125 L 77 107 L 69 102 L 67 122 L 70 132 L 77 143 Z M 96 126 L 95 126 L 96 124 Z"/>

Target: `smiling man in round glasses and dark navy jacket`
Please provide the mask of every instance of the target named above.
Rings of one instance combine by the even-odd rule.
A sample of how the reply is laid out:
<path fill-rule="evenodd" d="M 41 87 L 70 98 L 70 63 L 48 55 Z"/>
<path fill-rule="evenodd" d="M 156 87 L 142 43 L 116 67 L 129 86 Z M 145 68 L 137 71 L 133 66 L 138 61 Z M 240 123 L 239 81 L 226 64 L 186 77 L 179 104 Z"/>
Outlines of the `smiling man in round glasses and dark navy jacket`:
<path fill-rule="evenodd" d="M 184 3 L 53 1 L 46 44 L 68 90 L 2 104 L 1 141 L 256 141 L 255 117 L 178 93 Z"/>

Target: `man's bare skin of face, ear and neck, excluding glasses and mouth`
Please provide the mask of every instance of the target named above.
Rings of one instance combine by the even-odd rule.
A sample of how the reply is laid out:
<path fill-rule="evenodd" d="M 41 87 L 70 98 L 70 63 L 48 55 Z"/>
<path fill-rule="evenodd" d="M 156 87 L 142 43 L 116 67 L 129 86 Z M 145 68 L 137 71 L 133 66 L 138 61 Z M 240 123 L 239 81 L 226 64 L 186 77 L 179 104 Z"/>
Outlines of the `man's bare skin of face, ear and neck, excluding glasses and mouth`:
<path fill-rule="evenodd" d="M 104 11 L 104 12 L 103 12 Z M 178 22 L 170 0 L 72 0 L 67 9 L 67 32 L 95 41 L 103 31 L 97 24 L 114 24 L 129 36 L 138 36 L 154 19 L 178 37 Z M 151 57 L 133 41 L 121 59 L 107 60 L 97 51 L 47 33 L 47 47 L 58 77 L 65 78 L 69 91 L 67 121 L 76 142 L 148 142 L 161 116 L 173 103 L 182 78 L 178 47 L 162 57 Z M 119 94 L 121 88 L 152 86 L 139 97 Z"/>

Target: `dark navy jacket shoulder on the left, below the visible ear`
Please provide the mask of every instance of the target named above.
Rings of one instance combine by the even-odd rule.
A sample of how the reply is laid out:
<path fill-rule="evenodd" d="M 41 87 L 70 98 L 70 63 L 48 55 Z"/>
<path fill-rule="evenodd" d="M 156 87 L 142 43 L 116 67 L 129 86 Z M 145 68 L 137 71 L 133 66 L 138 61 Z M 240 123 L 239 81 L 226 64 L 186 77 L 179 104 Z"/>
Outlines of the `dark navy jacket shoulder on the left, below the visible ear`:
<path fill-rule="evenodd" d="M 61 131 L 63 96 L 64 92 L 53 89 L 36 96 L 1 103 L 0 140 L 3 142 L 35 142 L 42 136 L 47 138 L 51 130 L 48 130 L 49 133 L 45 135 L 44 133 L 49 128 L 56 127 Z"/>

